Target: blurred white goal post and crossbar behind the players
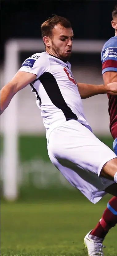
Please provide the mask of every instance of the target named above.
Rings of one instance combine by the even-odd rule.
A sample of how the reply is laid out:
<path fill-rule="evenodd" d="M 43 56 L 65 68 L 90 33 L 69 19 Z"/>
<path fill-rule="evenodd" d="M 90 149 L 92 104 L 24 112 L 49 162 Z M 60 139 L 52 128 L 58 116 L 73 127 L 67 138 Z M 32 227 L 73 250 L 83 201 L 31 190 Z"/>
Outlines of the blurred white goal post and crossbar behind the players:
<path fill-rule="evenodd" d="M 74 40 L 72 52 L 101 53 L 103 40 Z M 4 62 L 4 84 L 8 83 L 19 69 L 19 53 L 45 51 L 42 39 L 13 39 L 6 42 Z M 28 57 L 28 56 L 27 56 Z M 7 200 L 18 197 L 18 94 L 4 112 L 3 146 L 3 196 Z"/>

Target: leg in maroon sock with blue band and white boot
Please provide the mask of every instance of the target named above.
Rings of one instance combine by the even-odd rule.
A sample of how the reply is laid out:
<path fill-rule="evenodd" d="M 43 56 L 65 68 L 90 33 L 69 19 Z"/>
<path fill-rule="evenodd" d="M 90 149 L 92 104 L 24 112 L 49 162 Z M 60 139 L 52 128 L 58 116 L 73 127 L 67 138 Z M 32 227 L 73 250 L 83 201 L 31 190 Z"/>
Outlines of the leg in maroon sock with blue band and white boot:
<path fill-rule="evenodd" d="M 114 140 L 113 148 L 115 154 L 117 155 L 117 139 Z M 107 193 L 112 195 L 117 194 L 117 184 L 114 183 L 105 189 Z M 107 203 L 107 207 L 96 225 L 96 227 L 91 230 L 86 237 L 84 242 L 87 244 L 87 249 L 91 251 L 91 248 L 95 245 L 96 241 L 103 242 L 108 231 L 117 224 L 117 197 L 112 197 Z M 90 254 L 89 254 L 90 255 Z"/>

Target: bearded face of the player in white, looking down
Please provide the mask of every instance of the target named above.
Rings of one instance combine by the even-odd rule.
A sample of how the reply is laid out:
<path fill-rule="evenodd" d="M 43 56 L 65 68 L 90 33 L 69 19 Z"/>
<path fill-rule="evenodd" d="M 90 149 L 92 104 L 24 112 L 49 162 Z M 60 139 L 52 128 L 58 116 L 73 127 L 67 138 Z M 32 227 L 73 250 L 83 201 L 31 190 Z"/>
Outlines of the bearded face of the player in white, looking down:
<path fill-rule="evenodd" d="M 59 24 L 53 29 L 53 37 L 51 39 L 51 51 L 63 60 L 68 60 L 71 56 L 72 28 L 64 28 Z"/>

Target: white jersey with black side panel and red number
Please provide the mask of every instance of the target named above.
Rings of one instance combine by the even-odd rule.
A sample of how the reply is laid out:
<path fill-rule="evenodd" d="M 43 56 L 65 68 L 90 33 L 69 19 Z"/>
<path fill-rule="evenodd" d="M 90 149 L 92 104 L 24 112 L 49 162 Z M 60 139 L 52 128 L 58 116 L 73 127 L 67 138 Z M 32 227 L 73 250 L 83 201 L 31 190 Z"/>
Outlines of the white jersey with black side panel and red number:
<path fill-rule="evenodd" d="M 89 125 L 68 61 L 64 62 L 46 52 L 36 53 L 27 58 L 19 70 L 37 76 L 30 85 L 41 109 L 47 141 L 50 132 L 66 120 L 74 119 Z"/>

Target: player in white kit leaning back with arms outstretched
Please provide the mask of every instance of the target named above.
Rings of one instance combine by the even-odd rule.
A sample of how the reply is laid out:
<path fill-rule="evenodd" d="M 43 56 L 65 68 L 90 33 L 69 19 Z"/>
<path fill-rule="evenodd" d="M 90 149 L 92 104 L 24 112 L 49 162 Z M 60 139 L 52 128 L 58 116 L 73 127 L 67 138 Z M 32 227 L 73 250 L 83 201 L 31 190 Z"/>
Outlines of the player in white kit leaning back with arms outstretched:
<path fill-rule="evenodd" d="M 116 155 L 92 133 L 81 100 L 102 93 L 117 95 L 117 83 L 76 83 L 68 62 L 74 35 L 66 18 L 54 15 L 41 30 L 46 51 L 27 58 L 2 88 L 1 113 L 30 84 L 41 109 L 52 163 L 92 203 L 106 193 L 117 196 Z"/>

